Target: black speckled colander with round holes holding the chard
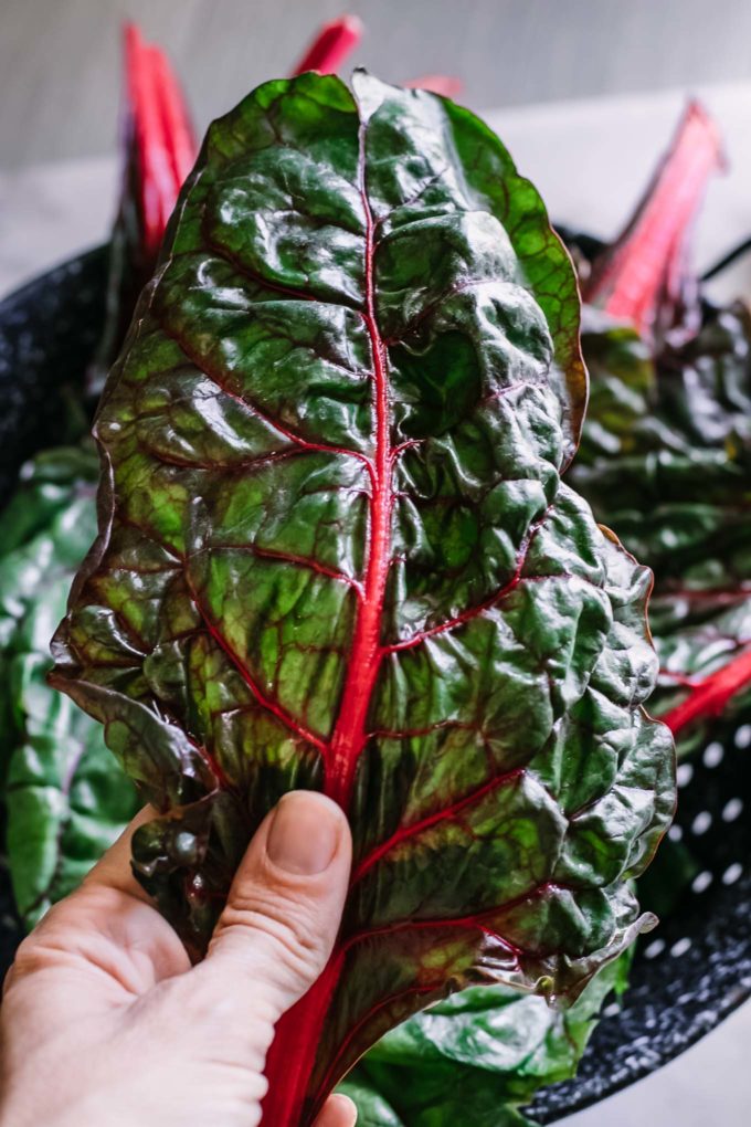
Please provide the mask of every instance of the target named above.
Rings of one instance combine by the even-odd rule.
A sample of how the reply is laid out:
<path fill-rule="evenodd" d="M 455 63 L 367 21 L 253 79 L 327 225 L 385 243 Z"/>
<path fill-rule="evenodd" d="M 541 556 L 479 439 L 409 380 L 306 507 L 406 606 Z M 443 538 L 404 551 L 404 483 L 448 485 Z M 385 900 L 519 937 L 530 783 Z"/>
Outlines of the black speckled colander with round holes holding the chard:
<path fill-rule="evenodd" d="M 62 389 L 82 379 L 104 318 L 99 248 L 0 302 L 0 504 L 19 465 L 53 445 Z M 531 1108 L 553 1122 L 654 1072 L 751 995 L 751 716 L 679 770 L 671 834 L 697 862 L 690 887 L 641 943 L 620 1005 L 606 1005 L 575 1080 Z M 20 938 L 0 868 L 0 976 Z"/>

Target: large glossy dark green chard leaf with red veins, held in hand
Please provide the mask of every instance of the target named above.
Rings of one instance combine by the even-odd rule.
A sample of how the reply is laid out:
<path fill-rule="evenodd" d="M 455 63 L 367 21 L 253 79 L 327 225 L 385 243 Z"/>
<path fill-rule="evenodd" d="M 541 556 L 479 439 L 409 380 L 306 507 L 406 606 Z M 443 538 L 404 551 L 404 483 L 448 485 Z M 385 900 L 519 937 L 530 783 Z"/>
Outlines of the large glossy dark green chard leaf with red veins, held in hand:
<path fill-rule="evenodd" d="M 558 476 L 585 399 L 567 256 L 475 117 L 354 86 L 266 83 L 209 130 L 105 390 L 55 640 L 55 683 L 180 808 L 134 862 L 196 953 L 285 790 L 349 813 L 275 1127 L 452 990 L 575 997 L 649 924 L 627 881 L 673 806 L 649 573 Z"/>

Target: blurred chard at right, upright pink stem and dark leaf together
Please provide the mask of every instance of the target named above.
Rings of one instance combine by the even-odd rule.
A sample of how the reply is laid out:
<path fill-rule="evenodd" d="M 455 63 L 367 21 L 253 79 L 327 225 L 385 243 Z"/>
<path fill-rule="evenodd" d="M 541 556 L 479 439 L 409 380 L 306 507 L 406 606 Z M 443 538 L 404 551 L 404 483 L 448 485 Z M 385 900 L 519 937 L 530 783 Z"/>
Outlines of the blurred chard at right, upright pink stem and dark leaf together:
<path fill-rule="evenodd" d="M 624 234 L 573 248 L 605 310 L 583 309 L 590 401 L 569 480 L 654 569 L 650 710 L 686 758 L 744 746 L 751 721 L 751 321 L 743 302 L 707 301 L 690 268 L 718 154 L 716 127 L 689 106 Z M 664 192 L 676 177 L 686 207 Z M 705 869 L 692 841 L 667 841 L 640 896 L 665 917 Z"/>

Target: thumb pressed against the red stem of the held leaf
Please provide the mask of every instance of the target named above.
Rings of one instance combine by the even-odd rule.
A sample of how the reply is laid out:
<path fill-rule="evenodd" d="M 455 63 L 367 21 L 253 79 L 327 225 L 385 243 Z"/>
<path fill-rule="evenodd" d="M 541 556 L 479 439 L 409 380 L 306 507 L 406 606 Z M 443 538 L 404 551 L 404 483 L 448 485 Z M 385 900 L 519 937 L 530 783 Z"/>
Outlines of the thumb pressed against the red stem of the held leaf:
<path fill-rule="evenodd" d="M 212 991 L 250 995 L 257 1011 L 263 1001 L 276 1022 L 327 964 L 350 863 L 341 809 L 313 791 L 285 795 L 253 837 L 196 971 Z"/>

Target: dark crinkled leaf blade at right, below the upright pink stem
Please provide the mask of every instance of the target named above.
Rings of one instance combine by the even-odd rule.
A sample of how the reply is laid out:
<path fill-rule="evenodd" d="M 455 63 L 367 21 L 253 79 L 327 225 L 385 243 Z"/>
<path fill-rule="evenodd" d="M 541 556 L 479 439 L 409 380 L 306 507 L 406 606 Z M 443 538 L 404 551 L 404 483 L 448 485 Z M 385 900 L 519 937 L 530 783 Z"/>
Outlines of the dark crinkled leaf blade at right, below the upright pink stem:
<path fill-rule="evenodd" d="M 707 307 L 654 356 L 601 313 L 584 323 L 592 396 L 570 480 L 654 569 L 651 709 L 690 754 L 751 703 L 751 321 L 741 303 Z"/>

